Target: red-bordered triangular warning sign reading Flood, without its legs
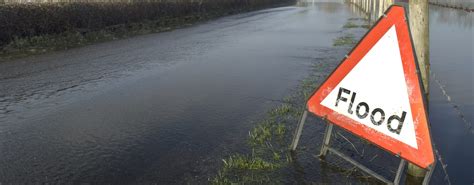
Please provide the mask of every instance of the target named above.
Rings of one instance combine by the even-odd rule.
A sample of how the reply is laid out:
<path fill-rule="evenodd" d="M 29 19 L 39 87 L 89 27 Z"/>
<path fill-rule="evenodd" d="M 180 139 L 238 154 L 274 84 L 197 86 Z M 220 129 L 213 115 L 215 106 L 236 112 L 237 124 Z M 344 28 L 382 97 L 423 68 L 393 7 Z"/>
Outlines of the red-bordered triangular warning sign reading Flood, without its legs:
<path fill-rule="evenodd" d="M 307 108 L 427 168 L 434 157 L 419 79 L 404 8 L 392 6 L 315 91 Z"/>

